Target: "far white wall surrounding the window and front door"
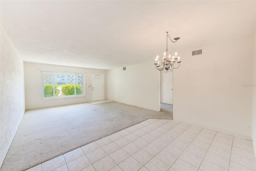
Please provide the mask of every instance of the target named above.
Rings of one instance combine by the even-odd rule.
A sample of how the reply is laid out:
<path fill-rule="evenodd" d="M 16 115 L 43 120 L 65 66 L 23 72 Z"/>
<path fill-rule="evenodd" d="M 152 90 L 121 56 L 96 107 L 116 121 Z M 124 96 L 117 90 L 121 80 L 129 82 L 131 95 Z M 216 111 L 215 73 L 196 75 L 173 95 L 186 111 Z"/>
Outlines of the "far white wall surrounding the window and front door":
<path fill-rule="evenodd" d="M 84 73 L 85 96 L 42 100 L 41 71 Z M 26 109 L 38 109 L 91 101 L 91 87 L 88 86 L 91 86 L 92 73 L 104 74 L 104 99 L 107 99 L 106 70 L 24 62 Z"/>

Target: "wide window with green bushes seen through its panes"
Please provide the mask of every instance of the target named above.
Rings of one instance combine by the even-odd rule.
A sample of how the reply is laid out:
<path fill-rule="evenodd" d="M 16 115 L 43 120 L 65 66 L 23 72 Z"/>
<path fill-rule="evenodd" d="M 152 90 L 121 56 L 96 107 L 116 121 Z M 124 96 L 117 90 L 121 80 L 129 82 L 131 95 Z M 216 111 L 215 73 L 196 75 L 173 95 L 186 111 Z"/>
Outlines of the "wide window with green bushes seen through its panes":
<path fill-rule="evenodd" d="M 72 81 L 70 81 L 70 78 L 73 78 Z M 80 78 L 79 81 L 78 78 Z M 42 99 L 84 95 L 83 78 L 84 74 L 60 74 L 54 72 L 42 72 Z"/>

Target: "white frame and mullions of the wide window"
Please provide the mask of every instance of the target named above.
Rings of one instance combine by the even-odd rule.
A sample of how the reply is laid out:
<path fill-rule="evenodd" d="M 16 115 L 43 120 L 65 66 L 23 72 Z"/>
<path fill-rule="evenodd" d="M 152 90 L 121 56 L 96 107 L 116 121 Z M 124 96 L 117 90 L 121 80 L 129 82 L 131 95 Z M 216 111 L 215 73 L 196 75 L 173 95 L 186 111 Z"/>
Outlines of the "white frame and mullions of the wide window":
<path fill-rule="evenodd" d="M 53 97 L 44 97 L 44 78 L 43 78 L 43 74 L 53 74 Z M 82 90 L 83 90 L 83 93 L 82 94 L 79 94 L 79 95 L 64 95 L 64 96 L 55 96 L 55 77 L 54 75 L 57 74 L 57 75 L 74 75 L 74 85 L 76 85 L 76 75 L 82 75 L 83 76 L 83 79 L 82 79 Z M 84 80 L 85 80 L 85 74 L 84 73 L 63 73 L 63 72 L 49 72 L 49 71 L 41 71 L 41 96 L 42 96 L 42 100 L 47 100 L 47 99 L 63 99 L 63 98 L 70 98 L 70 97 L 82 97 L 82 96 L 85 96 L 85 84 L 84 84 Z M 58 80 L 57 80 L 58 82 Z M 61 81 L 60 81 L 61 82 Z M 77 80 L 78 82 L 78 80 Z M 79 81 L 80 82 L 80 81 Z M 76 93 L 76 86 L 74 86 L 74 91 Z"/>

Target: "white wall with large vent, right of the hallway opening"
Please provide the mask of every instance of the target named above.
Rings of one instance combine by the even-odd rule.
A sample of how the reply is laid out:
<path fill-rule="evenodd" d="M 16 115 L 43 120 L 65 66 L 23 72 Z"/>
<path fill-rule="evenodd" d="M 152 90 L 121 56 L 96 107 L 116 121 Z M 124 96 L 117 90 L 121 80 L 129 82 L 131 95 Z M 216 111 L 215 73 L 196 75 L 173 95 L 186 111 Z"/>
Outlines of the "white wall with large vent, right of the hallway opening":
<path fill-rule="evenodd" d="M 203 56 L 179 52 L 173 117 L 236 135 L 252 136 L 254 37 L 204 46 Z M 196 48 L 196 47 L 194 47 Z"/>

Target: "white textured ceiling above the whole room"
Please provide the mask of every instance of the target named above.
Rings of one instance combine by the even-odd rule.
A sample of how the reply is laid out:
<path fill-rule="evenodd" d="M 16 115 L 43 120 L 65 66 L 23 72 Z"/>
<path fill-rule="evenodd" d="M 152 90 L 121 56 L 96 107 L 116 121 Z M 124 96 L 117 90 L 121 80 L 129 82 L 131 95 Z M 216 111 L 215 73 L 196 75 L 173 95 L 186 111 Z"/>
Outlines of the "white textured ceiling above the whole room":
<path fill-rule="evenodd" d="M 255 34 L 256 1 L 0 1 L 24 61 L 111 69 Z M 186 58 L 186 57 L 181 57 Z"/>

